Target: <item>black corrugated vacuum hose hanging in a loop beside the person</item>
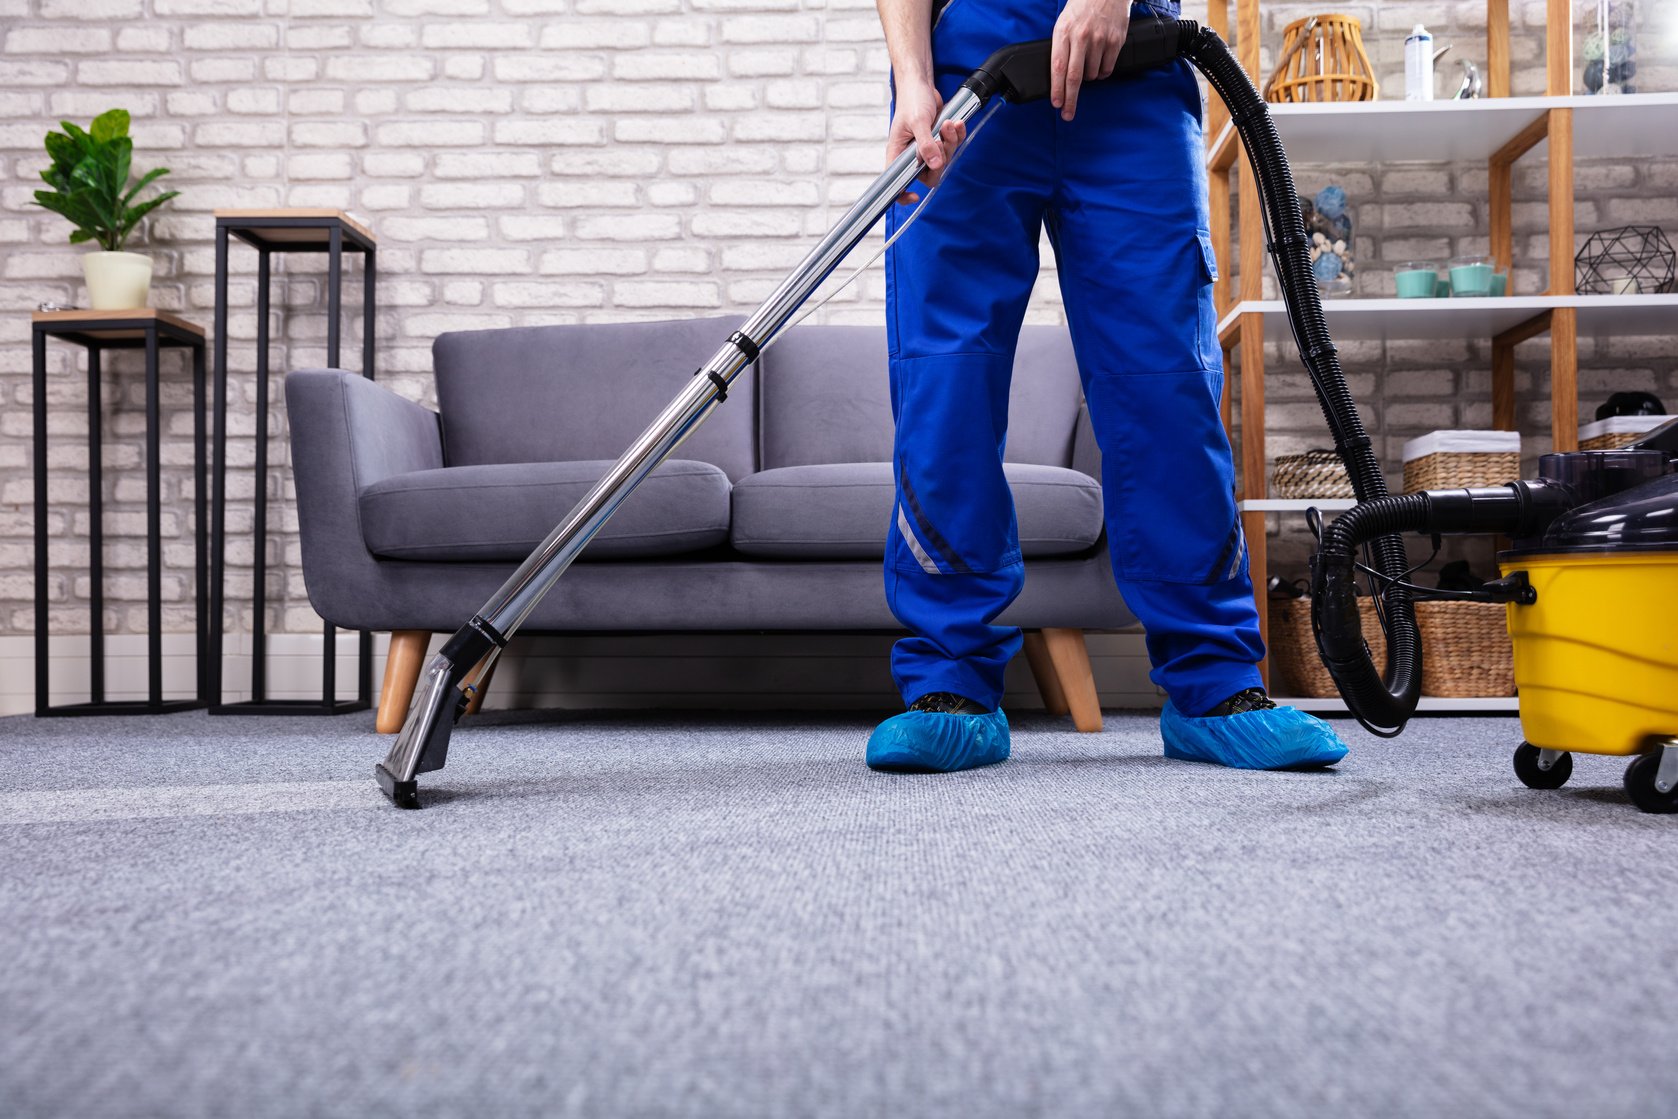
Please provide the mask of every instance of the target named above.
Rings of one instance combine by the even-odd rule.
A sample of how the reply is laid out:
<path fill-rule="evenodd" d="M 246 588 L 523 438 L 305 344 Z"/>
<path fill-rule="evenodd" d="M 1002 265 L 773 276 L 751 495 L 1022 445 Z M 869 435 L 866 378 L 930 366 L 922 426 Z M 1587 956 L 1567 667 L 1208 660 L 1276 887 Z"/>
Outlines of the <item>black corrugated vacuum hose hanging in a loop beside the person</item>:
<path fill-rule="evenodd" d="M 1369 435 L 1364 431 L 1358 406 L 1346 388 L 1334 341 L 1322 317 L 1322 297 L 1311 273 L 1311 238 L 1305 218 L 1294 193 L 1294 173 L 1287 166 L 1287 153 L 1275 133 L 1275 122 L 1264 97 L 1253 89 L 1247 70 L 1235 60 L 1230 49 L 1212 29 L 1198 29 L 1188 20 L 1183 32 L 1183 57 L 1205 74 L 1206 84 L 1217 91 L 1230 109 L 1230 121 L 1240 133 L 1247 158 L 1258 186 L 1270 260 L 1282 285 L 1287 320 L 1294 329 L 1300 361 L 1317 389 L 1322 418 L 1334 436 L 1334 450 L 1346 463 L 1352 492 L 1359 502 L 1378 502 L 1359 523 L 1379 530 L 1369 540 L 1371 567 L 1386 575 L 1386 592 L 1381 596 L 1381 614 L 1386 627 L 1386 674 L 1369 659 L 1358 621 L 1356 549 L 1329 554 L 1324 549 L 1312 557 L 1312 626 L 1317 631 L 1317 651 L 1341 690 L 1346 706 L 1358 721 L 1378 735 L 1396 735 L 1416 711 L 1421 695 L 1421 638 L 1416 632 L 1416 609 L 1408 591 L 1396 586 L 1406 569 L 1404 544 L 1394 535 L 1406 525 L 1406 498 L 1389 498 L 1381 463 L 1376 461 Z M 1394 505 L 1388 505 L 1386 502 Z M 1358 510 L 1354 510 L 1358 512 Z M 1344 518 L 1341 518 L 1344 520 Z M 1336 522 L 1339 527 L 1341 522 Z M 1359 540 L 1363 542 L 1363 540 Z"/>

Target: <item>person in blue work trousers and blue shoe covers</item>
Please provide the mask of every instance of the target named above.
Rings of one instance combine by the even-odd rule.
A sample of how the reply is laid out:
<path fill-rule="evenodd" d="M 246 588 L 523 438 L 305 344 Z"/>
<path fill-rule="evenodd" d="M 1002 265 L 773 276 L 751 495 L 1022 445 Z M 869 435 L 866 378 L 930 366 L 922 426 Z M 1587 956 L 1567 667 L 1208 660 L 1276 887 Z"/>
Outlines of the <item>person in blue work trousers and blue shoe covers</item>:
<path fill-rule="evenodd" d="M 1020 631 L 993 619 L 1025 579 L 1002 473 L 1008 381 L 1049 230 L 1102 453 L 1119 591 L 1170 696 L 1165 753 L 1245 768 L 1331 765 L 1326 723 L 1265 695 L 1264 644 L 1218 413 L 1200 89 L 1190 65 L 1102 84 L 1148 0 L 878 0 L 893 70 L 886 156 L 916 144 L 938 196 L 886 257 L 898 503 L 886 597 L 913 636 L 893 678 L 908 711 L 868 763 L 946 772 L 1008 757 L 1002 674 Z M 997 47 L 1054 39 L 1049 101 L 998 109 L 968 149 L 933 124 Z M 886 216 L 908 220 L 915 193 Z"/>

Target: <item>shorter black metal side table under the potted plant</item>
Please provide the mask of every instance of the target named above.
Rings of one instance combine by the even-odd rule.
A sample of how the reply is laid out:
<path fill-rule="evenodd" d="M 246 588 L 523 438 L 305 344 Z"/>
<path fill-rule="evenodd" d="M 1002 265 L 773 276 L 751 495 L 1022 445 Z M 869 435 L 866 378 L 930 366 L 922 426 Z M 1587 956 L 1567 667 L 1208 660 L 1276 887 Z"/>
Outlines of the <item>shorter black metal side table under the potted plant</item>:
<path fill-rule="evenodd" d="M 163 715 L 210 703 L 210 586 L 205 508 L 205 332 L 185 319 L 149 307 L 136 310 L 49 310 L 30 320 L 35 357 L 35 715 Z M 47 339 L 87 347 L 87 545 L 91 634 L 91 700 L 52 706 L 49 679 L 47 577 Z M 193 555 L 196 587 L 196 698 L 163 698 L 163 419 L 158 403 L 158 352 L 193 352 Z M 107 349 L 146 351 L 146 698 L 106 700 L 104 656 L 104 436 L 101 424 L 101 354 Z"/>

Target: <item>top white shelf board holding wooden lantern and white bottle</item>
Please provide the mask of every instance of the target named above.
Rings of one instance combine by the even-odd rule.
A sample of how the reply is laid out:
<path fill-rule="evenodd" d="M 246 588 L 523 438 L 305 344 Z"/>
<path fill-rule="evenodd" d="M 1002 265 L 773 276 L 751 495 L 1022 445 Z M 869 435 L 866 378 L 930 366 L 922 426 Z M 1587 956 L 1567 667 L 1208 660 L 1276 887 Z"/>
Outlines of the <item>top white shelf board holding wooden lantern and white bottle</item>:
<path fill-rule="evenodd" d="M 1327 101 L 1275 104 L 1270 119 L 1292 164 L 1485 163 L 1545 109 L 1576 109 L 1574 159 L 1678 154 L 1678 94 Z"/>

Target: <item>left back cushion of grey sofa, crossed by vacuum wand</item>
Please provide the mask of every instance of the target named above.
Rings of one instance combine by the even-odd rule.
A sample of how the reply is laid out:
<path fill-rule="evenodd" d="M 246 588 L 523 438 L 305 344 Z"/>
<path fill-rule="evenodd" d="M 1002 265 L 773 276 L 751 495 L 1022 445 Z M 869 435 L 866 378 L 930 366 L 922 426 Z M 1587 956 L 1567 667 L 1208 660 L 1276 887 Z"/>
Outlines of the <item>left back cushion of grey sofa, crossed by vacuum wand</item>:
<path fill-rule="evenodd" d="M 438 336 L 436 399 L 450 466 L 616 460 L 740 325 L 675 322 L 460 330 Z M 757 470 L 757 371 L 681 445 L 730 480 Z"/>

